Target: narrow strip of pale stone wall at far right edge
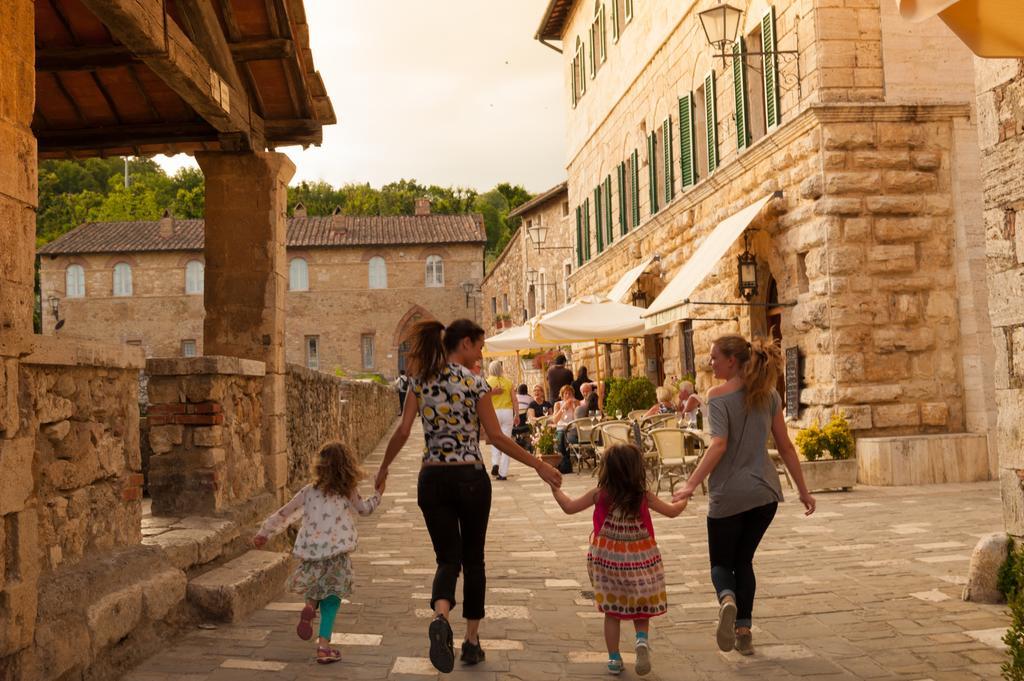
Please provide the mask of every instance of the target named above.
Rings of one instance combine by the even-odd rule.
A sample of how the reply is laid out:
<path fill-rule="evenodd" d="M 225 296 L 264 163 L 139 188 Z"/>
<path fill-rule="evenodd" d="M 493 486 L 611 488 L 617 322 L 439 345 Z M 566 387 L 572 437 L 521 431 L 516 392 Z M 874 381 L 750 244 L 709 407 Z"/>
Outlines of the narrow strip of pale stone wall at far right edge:
<path fill-rule="evenodd" d="M 1024 537 L 1024 59 L 978 59 L 976 66 L 998 409 L 994 438 L 1007 531 Z"/>

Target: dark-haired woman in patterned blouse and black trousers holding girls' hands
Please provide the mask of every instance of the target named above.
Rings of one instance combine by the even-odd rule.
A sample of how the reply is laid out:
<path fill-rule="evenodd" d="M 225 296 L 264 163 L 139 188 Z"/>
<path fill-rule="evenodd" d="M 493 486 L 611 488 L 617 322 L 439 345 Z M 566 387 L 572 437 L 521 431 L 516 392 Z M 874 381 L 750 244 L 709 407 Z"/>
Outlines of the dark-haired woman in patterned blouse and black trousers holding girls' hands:
<path fill-rule="evenodd" d="M 502 432 L 490 401 L 490 386 L 470 371 L 482 356 L 483 329 L 469 320 L 457 320 L 447 328 L 439 322 L 422 322 L 414 328 L 410 341 L 407 356 L 412 385 L 376 483 L 383 488 L 388 467 L 409 440 L 419 417 L 426 441 L 417 502 L 437 559 L 430 596 L 434 611 L 428 629 L 430 662 L 438 671 L 449 673 L 455 668 L 449 614 L 456 605 L 460 571 L 466 619 L 462 662 L 475 665 L 483 659 L 479 629 L 486 592 L 483 545 L 490 514 L 490 478 L 480 455 L 480 426 L 487 441 L 535 469 L 545 482 L 560 486 L 561 474 Z"/>

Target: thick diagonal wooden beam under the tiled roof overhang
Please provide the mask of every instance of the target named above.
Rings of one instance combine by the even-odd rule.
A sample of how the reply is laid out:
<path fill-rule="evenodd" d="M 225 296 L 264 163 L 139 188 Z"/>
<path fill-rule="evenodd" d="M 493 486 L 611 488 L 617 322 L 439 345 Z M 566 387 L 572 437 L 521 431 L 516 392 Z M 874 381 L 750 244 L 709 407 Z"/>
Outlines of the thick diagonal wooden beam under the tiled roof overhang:
<path fill-rule="evenodd" d="M 178 25 L 164 14 L 162 0 L 82 0 L 82 3 L 112 36 L 221 133 L 226 147 L 264 147 L 263 121 L 250 111 L 246 91 L 225 80 L 229 76 L 212 68 Z"/>

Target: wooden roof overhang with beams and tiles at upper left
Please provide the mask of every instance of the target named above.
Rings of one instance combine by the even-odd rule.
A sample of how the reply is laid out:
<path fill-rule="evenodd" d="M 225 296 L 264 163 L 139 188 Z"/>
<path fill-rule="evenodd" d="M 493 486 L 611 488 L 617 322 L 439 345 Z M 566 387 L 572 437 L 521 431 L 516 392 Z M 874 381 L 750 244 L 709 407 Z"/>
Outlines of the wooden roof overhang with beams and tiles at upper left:
<path fill-rule="evenodd" d="M 40 158 L 318 144 L 303 0 L 36 0 Z"/>

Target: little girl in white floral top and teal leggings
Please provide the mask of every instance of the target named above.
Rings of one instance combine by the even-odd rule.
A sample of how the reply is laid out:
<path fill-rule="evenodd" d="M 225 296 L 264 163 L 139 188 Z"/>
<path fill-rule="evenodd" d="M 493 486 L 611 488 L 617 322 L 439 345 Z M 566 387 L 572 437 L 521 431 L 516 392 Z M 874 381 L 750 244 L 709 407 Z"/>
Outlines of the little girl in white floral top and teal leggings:
<path fill-rule="evenodd" d="M 253 538 L 253 545 L 262 548 L 268 537 L 302 519 L 293 549 L 302 562 L 289 578 L 288 589 L 306 599 L 296 627 L 304 641 L 312 638 L 312 621 L 319 607 L 316 662 L 322 665 L 341 659 L 341 652 L 331 647 L 331 632 L 341 599 L 352 593 L 352 561 L 348 554 L 355 550 L 356 533 L 351 511 L 370 515 L 384 491 L 381 484 L 372 497 L 362 499 L 355 491 L 361 477 L 358 462 L 347 446 L 341 442 L 325 444 L 316 456 L 316 481 L 302 487 L 267 518 Z"/>

